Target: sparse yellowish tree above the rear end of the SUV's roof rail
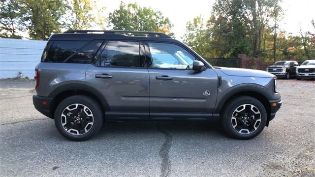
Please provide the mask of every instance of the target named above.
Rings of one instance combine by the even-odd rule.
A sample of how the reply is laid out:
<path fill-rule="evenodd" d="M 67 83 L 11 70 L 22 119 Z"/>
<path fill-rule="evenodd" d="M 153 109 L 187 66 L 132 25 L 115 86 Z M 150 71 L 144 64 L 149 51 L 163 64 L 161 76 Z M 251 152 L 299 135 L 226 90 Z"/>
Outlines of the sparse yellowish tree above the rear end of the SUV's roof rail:
<path fill-rule="evenodd" d="M 95 1 L 92 0 L 72 0 L 69 6 L 69 30 L 86 30 L 95 25 L 105 29 L 106 18 L 102 16 L 105 7 L 97 9 Z M 95 15 L 94 11 L 97 11 Z"/>

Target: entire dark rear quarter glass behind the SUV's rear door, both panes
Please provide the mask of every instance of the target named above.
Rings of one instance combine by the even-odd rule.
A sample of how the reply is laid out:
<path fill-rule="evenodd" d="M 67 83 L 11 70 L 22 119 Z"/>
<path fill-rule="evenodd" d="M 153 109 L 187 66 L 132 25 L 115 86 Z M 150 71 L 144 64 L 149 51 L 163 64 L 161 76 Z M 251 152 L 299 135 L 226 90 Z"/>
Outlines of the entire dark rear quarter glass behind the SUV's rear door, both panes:
<path fill-rule="evenodd" d="M 53 42 L 42 62 L 91 63 L 103 40 Z M 47 48 L 47 47 L 46 47 Z"/>

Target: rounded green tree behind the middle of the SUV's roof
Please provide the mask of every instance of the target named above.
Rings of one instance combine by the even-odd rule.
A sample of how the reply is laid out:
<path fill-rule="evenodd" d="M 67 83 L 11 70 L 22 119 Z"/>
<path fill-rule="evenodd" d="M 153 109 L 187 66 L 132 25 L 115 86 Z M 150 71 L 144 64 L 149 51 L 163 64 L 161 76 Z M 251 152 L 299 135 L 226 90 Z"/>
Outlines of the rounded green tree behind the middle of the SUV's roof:
<path fill-rule="evenodd" d="M 140 7 L 137 3 L 126 5 L 123 1 L 119 9 L 109 13 L 108 22 L 114 30 L 170 33 L 173 27 L 170 20 L 160 11 L 154 11 L 150 7 Z"/>

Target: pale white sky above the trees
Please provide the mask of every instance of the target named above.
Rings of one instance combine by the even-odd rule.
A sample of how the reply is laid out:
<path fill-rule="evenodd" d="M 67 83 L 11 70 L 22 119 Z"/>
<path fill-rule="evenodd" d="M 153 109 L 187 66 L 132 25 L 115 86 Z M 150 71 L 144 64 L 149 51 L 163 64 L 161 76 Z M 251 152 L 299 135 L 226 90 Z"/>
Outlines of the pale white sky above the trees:
<path fill-rule="evenodd" d="M 186 23 L 196 16 L 209 19 L 212 5 L 215 0 L 123 0 L 127 3 L 137 2 L 140 6 L 146 6 L 155 11 L 161 11 L 164 17 L 171 20 L 176 39 L 181 39 L 185 34 Z M 105 14 L 119 8 L 120 0 L 96 0 L 97 6 L 106 6 Z M 283 0 L 284 19 L 280 23 L 281 29 L 293 35 L 299 35 L 302 31 L 314 31 L 311 20 L 315 19 L 315 0 Z"/>

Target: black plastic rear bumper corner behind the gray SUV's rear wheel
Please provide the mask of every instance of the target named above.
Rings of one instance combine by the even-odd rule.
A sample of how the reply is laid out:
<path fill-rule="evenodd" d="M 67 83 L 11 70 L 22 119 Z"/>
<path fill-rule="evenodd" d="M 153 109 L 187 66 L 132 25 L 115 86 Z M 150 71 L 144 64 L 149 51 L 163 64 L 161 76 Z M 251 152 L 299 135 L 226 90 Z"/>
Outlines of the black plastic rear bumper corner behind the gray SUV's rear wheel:
<path fill-rule="evenodd" d="M 50 112 L 50 104 L 52 102 L 53 98 L 50 97 L 41 97 L 37 95 L 33 95 L 33 105 L 35 109 L 37 109 L 40 113 L 44 114 L 45 116 L 51 117 Z"/>

